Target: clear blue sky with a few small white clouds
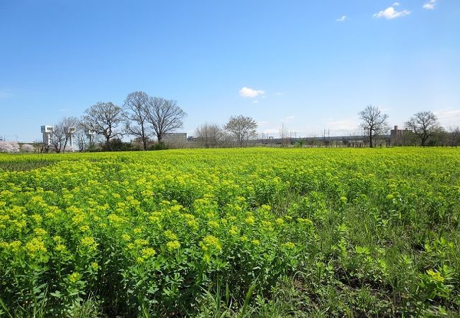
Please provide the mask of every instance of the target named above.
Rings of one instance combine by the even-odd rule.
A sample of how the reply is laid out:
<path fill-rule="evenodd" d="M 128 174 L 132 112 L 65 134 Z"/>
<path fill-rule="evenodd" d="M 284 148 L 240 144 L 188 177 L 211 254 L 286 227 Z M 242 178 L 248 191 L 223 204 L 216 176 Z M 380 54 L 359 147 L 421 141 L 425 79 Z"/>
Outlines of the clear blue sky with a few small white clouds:
<path fill-rule="evenodd" d="M 368 104 L 460 125 L 459 0 L 2 0 L 0 37 L 7 139 L 133 90 L 178 100 L 189 134 L 236 114 L 345 134 Z"/>

